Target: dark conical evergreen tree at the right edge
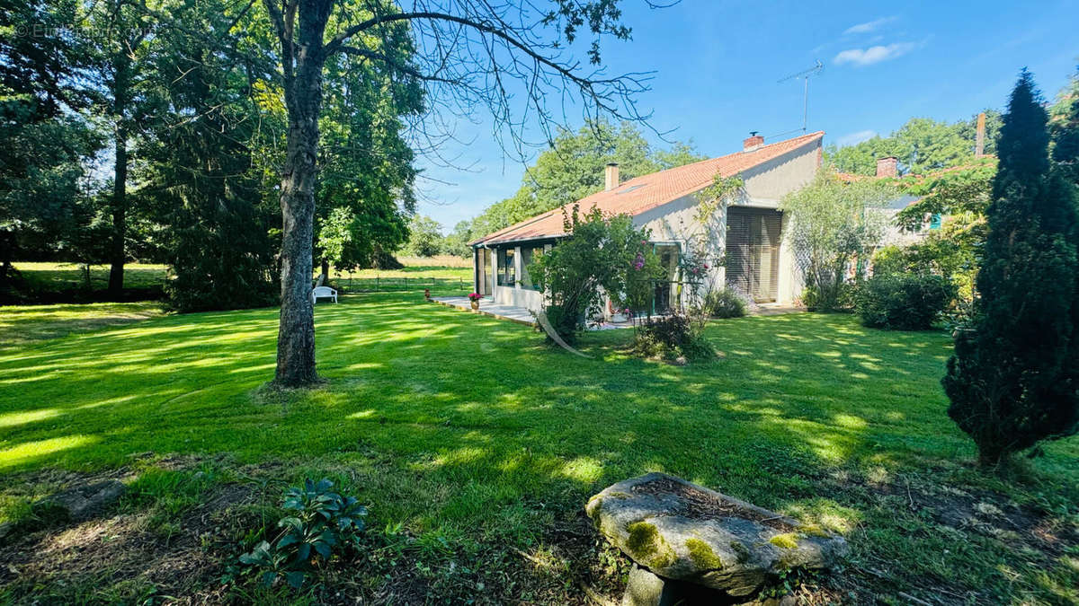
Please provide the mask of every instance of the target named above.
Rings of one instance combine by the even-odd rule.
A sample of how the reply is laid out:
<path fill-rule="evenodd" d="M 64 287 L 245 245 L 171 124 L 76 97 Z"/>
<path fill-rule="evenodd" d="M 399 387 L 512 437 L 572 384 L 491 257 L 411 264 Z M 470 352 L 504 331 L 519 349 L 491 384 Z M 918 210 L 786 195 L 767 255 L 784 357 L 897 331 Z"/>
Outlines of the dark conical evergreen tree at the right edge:
<path fill-rule="evenodd" d="M 997 143 L 974 328 L 956 338 L 942 383 L 948 416 L 992 467 L 1079 429 L 1075 374 L 1075 193 L 1049 161 L 1048 115 L 1020 74 Z"/>

